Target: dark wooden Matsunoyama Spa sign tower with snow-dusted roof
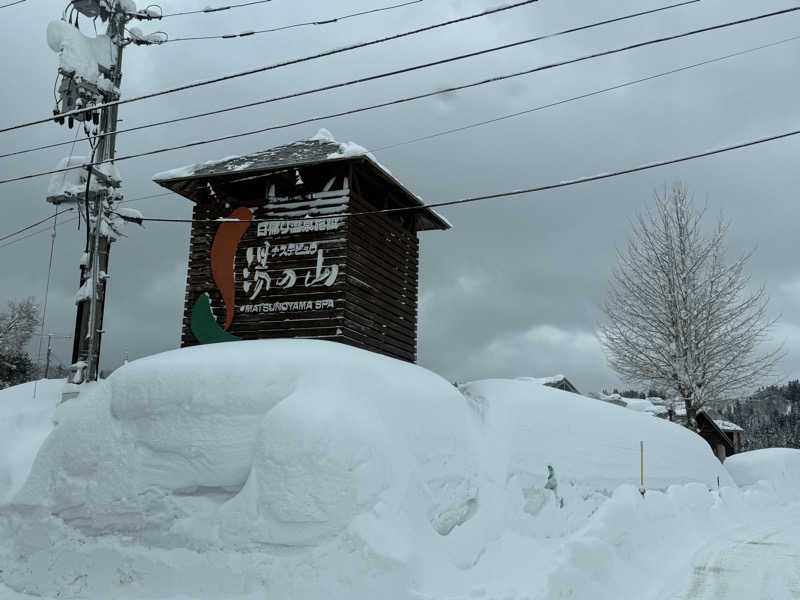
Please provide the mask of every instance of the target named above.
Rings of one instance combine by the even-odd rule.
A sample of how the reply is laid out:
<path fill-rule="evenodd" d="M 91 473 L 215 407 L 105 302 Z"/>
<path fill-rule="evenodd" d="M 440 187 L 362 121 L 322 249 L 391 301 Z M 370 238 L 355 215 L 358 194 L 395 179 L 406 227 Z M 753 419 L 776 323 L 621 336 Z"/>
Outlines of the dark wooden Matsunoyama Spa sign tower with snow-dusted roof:
<path fill-rule="evenodd" d="M 154 179 L 195 203 L 182 346 L 318 338 L 416 359 L 417 232 L 450 225 L 363 148 L 321 130 Z"/>

